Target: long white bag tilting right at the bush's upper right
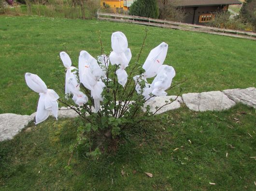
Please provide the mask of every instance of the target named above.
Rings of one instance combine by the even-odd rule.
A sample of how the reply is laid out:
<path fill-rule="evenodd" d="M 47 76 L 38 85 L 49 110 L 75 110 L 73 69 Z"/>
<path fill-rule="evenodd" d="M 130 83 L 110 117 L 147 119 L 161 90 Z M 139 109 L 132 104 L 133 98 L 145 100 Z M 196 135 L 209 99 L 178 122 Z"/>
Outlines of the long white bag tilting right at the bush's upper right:
<path fill-rule="evenodd" d="M 145 70 L 143 73 L 144 78 L 156 76 L 159 67 L 164 63 L 168 51 L 168 44 L 162 42 L 156 48 L 152 49 L 143 64 L 142 68 Z"/>

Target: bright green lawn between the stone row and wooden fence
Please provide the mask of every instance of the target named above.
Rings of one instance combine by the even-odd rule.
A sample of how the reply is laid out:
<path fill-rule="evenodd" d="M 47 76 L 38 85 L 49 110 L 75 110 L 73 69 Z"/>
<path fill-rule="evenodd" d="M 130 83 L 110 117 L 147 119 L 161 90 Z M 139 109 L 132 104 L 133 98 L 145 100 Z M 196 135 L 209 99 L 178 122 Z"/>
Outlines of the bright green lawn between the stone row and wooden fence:
<path fill-rule="evenodd" d="M 29 115 L 35 112 L 38 94 L 27 87 L 26 72 L 37 74 L 49 89 L 55 89 L 63 96 L 64 75 L 63 79 L 53 75 L 59 69 L 64 74 L 59 52 L 67 49 L 74 66 L 77 66 L 82 50 L 94 57 L 100 55 L 99 30 L 106 52 L 111 51 L 113 32 L 126 34 L 133 54 L 131 66 L 140 51 L 145 27 L 97 20 L 0 16 L 0 113 Z M 255 87 L 256 41 L 147 28 L 149 35 L 140 64 L 144 63 L 151 49 L 162 41 L 168 43 L 165 64 L 176 70 L 173 84 L 187 78 L 181 86 L 182 93 Z M 177 95 L 179 91 L 177 87 L 169 94 Z"/>

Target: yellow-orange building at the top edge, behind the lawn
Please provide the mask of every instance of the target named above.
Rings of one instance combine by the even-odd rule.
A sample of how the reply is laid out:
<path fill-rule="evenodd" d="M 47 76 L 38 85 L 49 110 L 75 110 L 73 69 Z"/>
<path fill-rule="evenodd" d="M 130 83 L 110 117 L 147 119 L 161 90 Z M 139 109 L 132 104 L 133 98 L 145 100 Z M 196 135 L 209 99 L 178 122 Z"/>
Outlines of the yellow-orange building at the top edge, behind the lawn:
<path fill-rule="evenodd" d="M 115 12 L 128 11 L 134 0 L 100 0 L 100 5 L 106 7 L 108 4 Z"/>

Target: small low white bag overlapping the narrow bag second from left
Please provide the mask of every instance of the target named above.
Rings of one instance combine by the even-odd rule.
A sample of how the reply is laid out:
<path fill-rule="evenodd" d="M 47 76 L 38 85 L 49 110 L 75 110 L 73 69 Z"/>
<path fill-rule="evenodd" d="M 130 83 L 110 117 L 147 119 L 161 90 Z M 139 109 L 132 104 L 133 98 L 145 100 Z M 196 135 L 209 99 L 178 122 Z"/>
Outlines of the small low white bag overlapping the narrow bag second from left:
<path fill-rule="evenodd" d="M 88 102 L 88 97 L 82 91 L 80 91 L 80 87 L 76 79 L 72 77 L 69 78 L 68 87 L 71 90 L 71 93 L 73 94 L 72 100 L 77 105 L 84 105 L 86 102 Z"/>

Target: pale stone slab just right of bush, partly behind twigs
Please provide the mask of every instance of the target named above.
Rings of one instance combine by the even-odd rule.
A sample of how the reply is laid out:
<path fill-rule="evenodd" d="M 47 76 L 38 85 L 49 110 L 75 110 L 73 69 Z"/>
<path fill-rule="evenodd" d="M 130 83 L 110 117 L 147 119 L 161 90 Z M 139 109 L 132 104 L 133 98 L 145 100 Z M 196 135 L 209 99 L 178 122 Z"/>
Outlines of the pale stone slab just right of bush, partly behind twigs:
<path fill-rule="evenodd" d="M 160 110 L 158 110 L 156 112 L 156 107 L 158 107 L 158 108 L 161 107 L 162 105 L 166 104 L 166 101 L 170 102 L 170 99 L 172 99 L 172 100 L 176 99 L 176 100 L 169 105 L 165 105 L 164 107 L 162 107 Z M 178 96 L 178 97 L 177 96 L 159 96 L 159 97 L 156 97 L 154 100 L 150 100 L 150 101 L 146 102 L 144 104 L 143 111 L 146 111 L 145 107 L 147 105 L 149 105 L 151 112 L 153 112 L 153 113 L 156 112 L 156 114 L 161 114 L 161 113 L 173 110 L 173 109 L 178 109 L 179 107 L 181 107 L 182 102 L 183 101 L 180 96 Z"/>

